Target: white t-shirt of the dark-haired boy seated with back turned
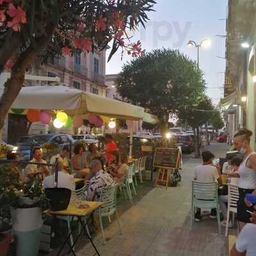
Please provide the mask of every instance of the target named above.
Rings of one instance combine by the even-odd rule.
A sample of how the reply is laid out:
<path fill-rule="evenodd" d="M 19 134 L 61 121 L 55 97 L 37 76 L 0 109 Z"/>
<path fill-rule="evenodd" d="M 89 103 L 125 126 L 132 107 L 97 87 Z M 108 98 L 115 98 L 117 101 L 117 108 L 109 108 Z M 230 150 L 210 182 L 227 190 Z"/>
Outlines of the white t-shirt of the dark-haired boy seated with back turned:
<path fill-rule="evenodd" d="M 198 182 L 215 182 L 219 177 L 217 168 L 210 164 L 201 164 L 195 168 L 194 179 Z"/>

